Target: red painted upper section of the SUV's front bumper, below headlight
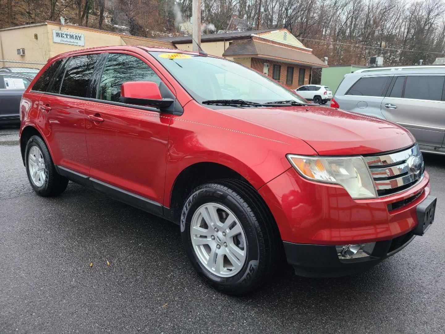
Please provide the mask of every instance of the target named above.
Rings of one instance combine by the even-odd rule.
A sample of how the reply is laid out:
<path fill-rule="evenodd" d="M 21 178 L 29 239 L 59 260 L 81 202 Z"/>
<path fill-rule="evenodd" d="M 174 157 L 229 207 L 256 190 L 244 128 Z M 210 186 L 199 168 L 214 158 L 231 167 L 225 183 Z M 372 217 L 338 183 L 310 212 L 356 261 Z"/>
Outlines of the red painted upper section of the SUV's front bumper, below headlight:
<path fill-rule="evenodd" d="M 416 207 L 429 196 L 429 175 L 390 196 L 353 200 L 335 184 L 303 179 L 290 168 L 259 189 L 283 241 L 340 245 L 390 240 L 417 226 Z"/>

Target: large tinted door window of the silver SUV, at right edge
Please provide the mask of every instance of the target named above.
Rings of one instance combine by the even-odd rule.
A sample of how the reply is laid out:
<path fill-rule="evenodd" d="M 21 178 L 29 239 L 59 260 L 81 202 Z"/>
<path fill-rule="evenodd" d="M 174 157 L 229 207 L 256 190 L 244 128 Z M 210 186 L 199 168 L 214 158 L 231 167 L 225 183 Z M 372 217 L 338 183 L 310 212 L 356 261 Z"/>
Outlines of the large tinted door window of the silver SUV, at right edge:
<path fill-rule="evenodd" d="M 445 77 L 422 75 L 406 77 L 404 98 L 441 101 Z"/>

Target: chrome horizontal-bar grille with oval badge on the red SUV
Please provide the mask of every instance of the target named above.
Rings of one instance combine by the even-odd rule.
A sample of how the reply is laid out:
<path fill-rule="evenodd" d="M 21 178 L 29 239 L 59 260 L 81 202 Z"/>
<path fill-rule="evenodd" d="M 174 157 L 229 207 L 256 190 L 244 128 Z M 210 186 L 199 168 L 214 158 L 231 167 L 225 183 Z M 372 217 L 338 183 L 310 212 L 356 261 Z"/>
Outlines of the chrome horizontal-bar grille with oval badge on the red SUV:
<path fill-rule="evenodd" d="M 363 157 L 368 163 L 378 196 L 387 196 L 412 187 L 424 174 L 417 143 L 406 150 Z"/>

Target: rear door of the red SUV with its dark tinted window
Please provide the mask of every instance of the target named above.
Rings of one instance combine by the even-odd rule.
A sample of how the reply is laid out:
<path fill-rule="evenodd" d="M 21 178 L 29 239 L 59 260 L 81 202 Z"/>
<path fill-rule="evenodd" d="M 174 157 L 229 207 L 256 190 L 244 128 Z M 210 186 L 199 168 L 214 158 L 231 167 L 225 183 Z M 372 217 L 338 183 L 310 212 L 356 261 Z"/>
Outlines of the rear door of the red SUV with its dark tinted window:
<path fill-rule="evenodd" d="M 89 175 L 84 99 L 98 57 L 88 54 L 68 58 L 39 102 L 54 163 L 84 175 Z"/>

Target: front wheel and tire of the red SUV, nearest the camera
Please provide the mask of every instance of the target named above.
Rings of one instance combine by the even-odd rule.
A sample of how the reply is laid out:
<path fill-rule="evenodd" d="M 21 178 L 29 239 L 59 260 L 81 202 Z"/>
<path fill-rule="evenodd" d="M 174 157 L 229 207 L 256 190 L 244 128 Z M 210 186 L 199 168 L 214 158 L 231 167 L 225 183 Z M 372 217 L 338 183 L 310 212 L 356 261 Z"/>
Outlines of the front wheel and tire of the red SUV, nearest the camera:
<path fill-rule="evenodd" d="M 228 225 L 230 229 L 207 224 L 210 217 L 201 213 L 209 206 L 218 207 L 217 224 L 227 222 L 227 214 L 235 217 L 234 223 Z M 199 231 L 203 232 L 199 233 L 205 234 L 194 235 L 192 241 L 191 231 L 196 231 L 192 230 L 196 224 L 202 224 Z M 218 226 L 217 232 L 213 226 Z M 242 232 L 235 235 L 235 230 Z M 208 285 L 231 295 L 251 293 L 266 283 L 276 272 L 282 255 L 283 243 L 266 204 L 253 187 L 235 179 L 206 183 L 191 192 L 182 209 L 181 235 L 187 257 L 198 275 Z M 201 246 L 195 242 L 207 244 Z M 242 256 L 239 250 L 242 250 Z M 205 253 L 212 261 L 202 260 Z M 221 258 L 223 260 L 218 261 Z M 234 265 L 236 260 L 240 260 L 240 264 Z M 214 268 L 210 269 L 210 266 Z"/>

